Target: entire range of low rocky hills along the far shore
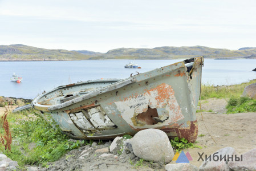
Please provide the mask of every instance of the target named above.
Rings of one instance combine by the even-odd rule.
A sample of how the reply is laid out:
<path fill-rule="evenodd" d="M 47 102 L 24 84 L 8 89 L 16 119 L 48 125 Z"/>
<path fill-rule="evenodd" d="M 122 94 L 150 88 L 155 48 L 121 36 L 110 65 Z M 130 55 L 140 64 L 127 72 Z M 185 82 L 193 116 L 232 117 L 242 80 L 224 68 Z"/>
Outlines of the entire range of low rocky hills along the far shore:
<path fill-rule="evenodd" d="M 87 50 L 48 50 L 23 44 L 0 46 L 0 60 L 177 59 L 195 56 L 214 59 L 256 59 L 256 48 L 243 47 L 239 48 L 239 50 L 227 50 L 205 46 L 165 46 L 155 48 L 117 48 L 109 50 L 107 53 L 100 53 Z"/>

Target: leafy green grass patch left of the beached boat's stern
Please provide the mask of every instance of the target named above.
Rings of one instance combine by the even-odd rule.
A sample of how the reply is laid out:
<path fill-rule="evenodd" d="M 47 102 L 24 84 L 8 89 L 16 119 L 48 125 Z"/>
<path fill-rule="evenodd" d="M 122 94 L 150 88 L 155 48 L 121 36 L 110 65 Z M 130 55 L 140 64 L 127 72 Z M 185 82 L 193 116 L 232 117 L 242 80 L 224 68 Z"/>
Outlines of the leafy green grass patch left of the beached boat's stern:
<path fill-rule="evenodd" d="M 60 129 L 52 128 L 32 109 L 9 114 L 7 120 L 13 137 L 11 152 L 7 152 L 4 146 L 0 146 L 0 150 L 11 160 L 17 161 L 19 166 L 56 161 L 68 150 L 80 146 L 79 141 L 68 141 L 69 137 L 63 135 Z M 3 134 L 3 128 L 0 132 Z M 31 143 L 36 144 L 35 148 L 29 149 Z"/>

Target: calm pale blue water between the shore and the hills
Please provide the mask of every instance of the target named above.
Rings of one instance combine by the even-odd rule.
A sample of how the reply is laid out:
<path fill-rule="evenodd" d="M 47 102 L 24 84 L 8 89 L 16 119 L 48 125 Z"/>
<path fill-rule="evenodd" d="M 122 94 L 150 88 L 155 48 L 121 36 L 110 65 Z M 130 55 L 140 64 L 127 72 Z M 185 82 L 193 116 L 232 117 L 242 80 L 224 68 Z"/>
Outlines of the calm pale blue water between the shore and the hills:
<path fill-rule="evenodd" d="M 181 60 L 136 60 L 141 69 L 124 68 L 129 60 L 83 60 L 52 62 L 0 62 L 0 96 L 34 99 L 52 88 L 94 79 L 128 78 L 135 71 L 146 72 Z M 255 59 L 205 59 L 202 83 L 230 85 L 256 79 Z M 11 82 L 13 72 L 21 83 Z"/>

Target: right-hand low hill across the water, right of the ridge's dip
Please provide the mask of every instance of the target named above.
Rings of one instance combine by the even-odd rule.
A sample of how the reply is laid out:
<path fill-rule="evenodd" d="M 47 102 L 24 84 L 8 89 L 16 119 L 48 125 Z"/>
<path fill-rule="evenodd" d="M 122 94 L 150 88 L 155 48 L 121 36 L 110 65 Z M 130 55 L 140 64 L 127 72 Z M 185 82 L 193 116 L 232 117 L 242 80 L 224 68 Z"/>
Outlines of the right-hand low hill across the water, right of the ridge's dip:
<path fill-rule="evenodd" d="M 205 46 L 156 47 L 156 48 L 117 48 L 109 50 L 102 58 L 123 59 L 132 56 L 135 59 L 176 59 L 204 56 L 205 58 L 256 58 L 256 48 L 227 50 Z"/>

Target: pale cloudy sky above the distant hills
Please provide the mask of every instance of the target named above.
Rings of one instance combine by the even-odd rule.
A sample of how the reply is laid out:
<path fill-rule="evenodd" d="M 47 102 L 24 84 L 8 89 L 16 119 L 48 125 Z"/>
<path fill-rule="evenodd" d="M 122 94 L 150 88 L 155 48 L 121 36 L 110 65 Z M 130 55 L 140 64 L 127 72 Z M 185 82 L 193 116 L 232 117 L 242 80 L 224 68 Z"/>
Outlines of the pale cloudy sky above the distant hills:
<path fill-rule="evenodd" d="M 98 52 L 256 47 L 256 1 L 0 0 L 0 44 Z"/>

